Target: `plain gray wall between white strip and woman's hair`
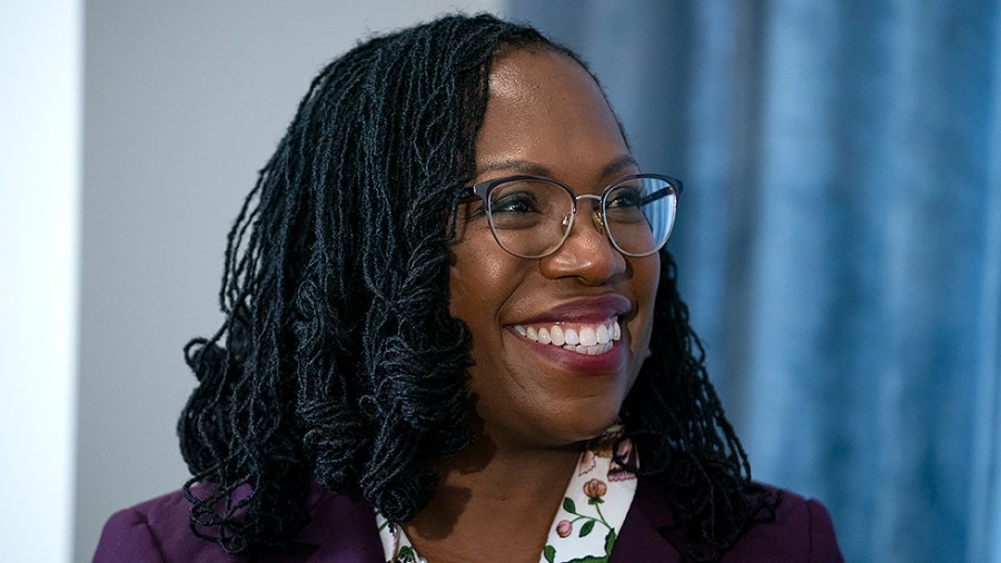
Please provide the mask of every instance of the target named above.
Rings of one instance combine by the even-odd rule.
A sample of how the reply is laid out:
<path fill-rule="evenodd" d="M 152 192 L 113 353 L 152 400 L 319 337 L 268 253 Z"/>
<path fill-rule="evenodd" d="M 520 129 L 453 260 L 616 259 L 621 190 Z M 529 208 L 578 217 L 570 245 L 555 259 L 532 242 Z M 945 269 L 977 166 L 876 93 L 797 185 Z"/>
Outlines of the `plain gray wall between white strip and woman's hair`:
<path fill-rule="evenodd" d="M 76 561 L 187 477 L 181 347 L 220 322 L 229 223 L 316 71 L 371 31 L 502 2 L 87 2 Z"/>

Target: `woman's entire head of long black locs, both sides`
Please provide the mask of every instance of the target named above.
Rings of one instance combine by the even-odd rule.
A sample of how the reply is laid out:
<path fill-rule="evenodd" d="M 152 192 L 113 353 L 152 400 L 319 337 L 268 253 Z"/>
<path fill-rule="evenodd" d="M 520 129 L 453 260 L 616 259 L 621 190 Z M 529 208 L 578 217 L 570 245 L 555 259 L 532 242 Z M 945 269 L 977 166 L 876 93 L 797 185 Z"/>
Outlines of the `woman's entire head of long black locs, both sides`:
<path fill-rule="evenodd" d="M 409 520 L 434 493 L 422 467 L 474 439 L 448 225 L 475 174 L 490 61 L 519 48 L 573 57 L 531 28 L 453 16 L 370 39 L 314 79 L 229 233 L 226 320 L 185 348 L 199 385 L 178 434 L 199 536 L 227 552 L 286 545 L 314 477 Z M 717 511 L 739 506 L 750 473 L 666 278 L 661 368 L 641 374 L 633 395 L 650 396 L 624 417 L 651 452 L 644 472 L 648 457 L 683 493 L 693 537 L 725 547 L 747 511 Z M 674 471 L 677 457 L 693 468 Z"/>

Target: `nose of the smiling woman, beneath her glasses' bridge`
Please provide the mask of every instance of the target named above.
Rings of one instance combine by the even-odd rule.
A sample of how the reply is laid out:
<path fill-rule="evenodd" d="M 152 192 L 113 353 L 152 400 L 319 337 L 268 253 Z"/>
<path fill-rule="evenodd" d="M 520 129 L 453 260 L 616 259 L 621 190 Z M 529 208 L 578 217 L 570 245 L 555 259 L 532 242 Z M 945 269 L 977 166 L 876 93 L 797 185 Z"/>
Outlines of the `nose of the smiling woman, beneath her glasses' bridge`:
<path fill-rule="evenodd" d="M 626 258 L 612 246 L 601 211 L 587 213 L 586 207 L 586 203 L 578 206 L 563 246 L 541 259 L 539 267 L 546 277 L 576 277 L 587 285 L 602 285 L 625 271 Z"/>

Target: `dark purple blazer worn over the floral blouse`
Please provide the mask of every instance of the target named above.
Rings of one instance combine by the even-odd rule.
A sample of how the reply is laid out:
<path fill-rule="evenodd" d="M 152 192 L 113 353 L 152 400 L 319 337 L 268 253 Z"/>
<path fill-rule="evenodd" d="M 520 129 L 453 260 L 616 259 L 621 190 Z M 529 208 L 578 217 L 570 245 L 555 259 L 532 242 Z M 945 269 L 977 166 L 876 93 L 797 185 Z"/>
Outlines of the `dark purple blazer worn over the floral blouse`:
<path fill-rule="evenodd" d="M 724 562 L 841 562 L 831 516 L 822 504 L 784 492 L 775 522 L 755 524 Z M 385 563 L 371 507 L 358 494 L 336 494 L 314 485 L 311 517 L 293 550 L 230 556 L 188 527 L 190 504 L 174 492 L 118 512 L 105 524 L 95 563 L 295 562 Z M 615 542 L 611 563 L 682 562 L 681 531 L 664 487 L 640 480 L 633 505 Z"/>

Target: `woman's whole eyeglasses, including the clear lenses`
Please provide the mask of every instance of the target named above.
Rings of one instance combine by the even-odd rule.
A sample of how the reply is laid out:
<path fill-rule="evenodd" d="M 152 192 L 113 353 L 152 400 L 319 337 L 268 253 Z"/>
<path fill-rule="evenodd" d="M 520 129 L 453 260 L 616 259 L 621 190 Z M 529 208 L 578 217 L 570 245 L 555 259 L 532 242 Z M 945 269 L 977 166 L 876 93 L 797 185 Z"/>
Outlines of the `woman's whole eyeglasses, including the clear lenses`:
<path fill-rule="evenodd" d="M 522 258 L 543 258 L 569 237 L 581 199 L 594 201 L 591 219 L 620 253 L 633 257 L 656 253 L 674 228 L 682 188 L 681 180 L 670 176 L 636 174 L 613 182 L 601 196 L 578 196 L 561 181 L 524 175 L 466 189 L 483 200 L 500 248 Z"/>

